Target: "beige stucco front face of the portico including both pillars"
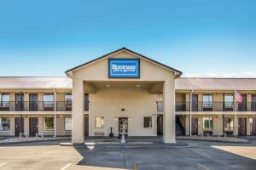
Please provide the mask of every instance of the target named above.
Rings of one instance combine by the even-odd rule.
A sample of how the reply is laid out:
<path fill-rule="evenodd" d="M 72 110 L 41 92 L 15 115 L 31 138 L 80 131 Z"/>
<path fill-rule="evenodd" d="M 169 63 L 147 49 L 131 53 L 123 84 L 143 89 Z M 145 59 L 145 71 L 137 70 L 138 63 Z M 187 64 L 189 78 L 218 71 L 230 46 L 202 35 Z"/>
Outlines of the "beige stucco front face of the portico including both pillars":
<path fill-rule="evenodd" d="M 118 54 L 112 54 L 109 58 L 140 58 L 136 54 L 130 54 L 125 51 Z M 174 73 L 163 66 L 141 58 L 141 77 L 139 79 L 109 79 L 108 78 L 108 59 L 99 59 L 79 70 L 73 71 L 73 143 L 84 142 L 84 81 L 158 81 L 164 82 L 163 99 L 164 105 L 164 141 L 166 143 L 175 142 L 175 82 Z M 125 89 L 123 89 L 125 92 Z M 110 97 L 110 96 L 109 96 Z M 143 98 L 142 98 L 143 99 Z M 119 108 L 119 105 L 116 105 Z M 139 111 L 137 111 L 139 113 Z M 135 114 L 135 113 L 134 113 Z M 91 133 L 91 132 L 90 132 Z M 138 134 L 138 133 L 137 133 Z M 140 133 L 143 136 L 143 133 Z"/>

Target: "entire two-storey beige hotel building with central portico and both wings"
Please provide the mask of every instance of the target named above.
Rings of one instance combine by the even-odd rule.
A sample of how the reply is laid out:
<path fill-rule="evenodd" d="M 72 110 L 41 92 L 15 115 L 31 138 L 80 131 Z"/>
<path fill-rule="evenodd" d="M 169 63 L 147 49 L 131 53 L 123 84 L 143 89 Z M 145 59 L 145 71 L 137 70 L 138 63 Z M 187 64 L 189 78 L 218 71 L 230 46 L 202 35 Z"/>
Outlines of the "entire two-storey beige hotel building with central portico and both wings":
<path fill-rule="evenodd" d="M 189 78 L 127 48 L 67 77 L 0 77 L 0 135 L 256 135 L 256 79 Z M 236 105 L 235 91 L 242 96 Z M 236 126 L 237 124 L 237 126 Z"/>

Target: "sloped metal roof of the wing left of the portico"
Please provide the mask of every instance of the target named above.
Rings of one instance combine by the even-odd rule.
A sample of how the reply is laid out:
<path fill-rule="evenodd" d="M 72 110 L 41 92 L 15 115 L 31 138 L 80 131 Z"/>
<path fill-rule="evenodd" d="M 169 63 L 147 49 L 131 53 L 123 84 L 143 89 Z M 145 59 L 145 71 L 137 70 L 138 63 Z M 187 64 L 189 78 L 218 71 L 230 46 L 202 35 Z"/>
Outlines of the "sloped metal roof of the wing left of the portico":
<path fill-rule="evenodd" d="M 71 89 L 67 77 L 0 77 L 0 89 Z"/>

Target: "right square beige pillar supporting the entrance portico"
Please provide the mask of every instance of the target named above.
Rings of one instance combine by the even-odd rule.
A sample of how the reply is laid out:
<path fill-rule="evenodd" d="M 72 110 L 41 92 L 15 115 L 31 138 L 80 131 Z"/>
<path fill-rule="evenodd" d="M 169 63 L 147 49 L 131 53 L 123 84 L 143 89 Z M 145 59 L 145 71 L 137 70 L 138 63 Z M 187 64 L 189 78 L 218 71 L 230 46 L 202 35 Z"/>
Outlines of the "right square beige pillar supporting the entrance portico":
<path fill-rule="evenodd" d="M 164 89 L 164 143 L 176 143 L 175 136 L 175 82 L 166 80 Z"/>

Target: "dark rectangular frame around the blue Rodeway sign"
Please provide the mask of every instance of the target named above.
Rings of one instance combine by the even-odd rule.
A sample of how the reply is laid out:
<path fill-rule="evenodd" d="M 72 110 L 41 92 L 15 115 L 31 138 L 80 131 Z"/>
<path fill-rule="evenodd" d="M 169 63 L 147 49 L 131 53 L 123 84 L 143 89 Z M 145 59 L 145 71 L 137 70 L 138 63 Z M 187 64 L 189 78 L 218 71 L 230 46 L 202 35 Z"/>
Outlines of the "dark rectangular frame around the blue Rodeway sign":
<path fill-rule="evenodd" d="M 137 62 L 137 75 L 124 75 L 122 76 L 114 76 L 113 73 L 111 73 L 111 61 L 136 61 Z M 120 58 L 109 58 L 108 59 L 108 78 L 136 78 L 139 79 L 141 77 L 141 60 L 140 59 L 120 59 Z"/>

